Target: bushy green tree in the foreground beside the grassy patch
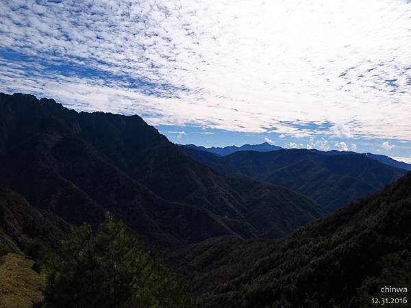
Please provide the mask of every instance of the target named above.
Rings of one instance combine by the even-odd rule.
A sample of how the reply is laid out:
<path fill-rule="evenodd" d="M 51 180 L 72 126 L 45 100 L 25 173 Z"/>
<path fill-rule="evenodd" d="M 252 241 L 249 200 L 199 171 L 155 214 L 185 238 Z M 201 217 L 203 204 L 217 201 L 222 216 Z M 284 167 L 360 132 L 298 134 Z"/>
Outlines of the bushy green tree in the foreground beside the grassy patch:
<path fill-rule="evenodd" d="M 123 222 L 84 224 L 52 266 L 41 307 L 192 307 L 188 285 L 147 253 Z"/>

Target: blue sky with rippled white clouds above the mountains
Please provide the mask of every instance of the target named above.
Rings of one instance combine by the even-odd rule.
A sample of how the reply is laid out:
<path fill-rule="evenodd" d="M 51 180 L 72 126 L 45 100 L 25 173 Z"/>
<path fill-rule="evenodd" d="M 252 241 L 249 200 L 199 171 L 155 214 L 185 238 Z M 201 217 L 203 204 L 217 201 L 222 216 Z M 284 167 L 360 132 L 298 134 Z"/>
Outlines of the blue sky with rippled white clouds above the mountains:
<path fill-rule="evenodd" d="M 0 0 L 0 91 L 172 142 L 411 162 L 411 1 Z"/>

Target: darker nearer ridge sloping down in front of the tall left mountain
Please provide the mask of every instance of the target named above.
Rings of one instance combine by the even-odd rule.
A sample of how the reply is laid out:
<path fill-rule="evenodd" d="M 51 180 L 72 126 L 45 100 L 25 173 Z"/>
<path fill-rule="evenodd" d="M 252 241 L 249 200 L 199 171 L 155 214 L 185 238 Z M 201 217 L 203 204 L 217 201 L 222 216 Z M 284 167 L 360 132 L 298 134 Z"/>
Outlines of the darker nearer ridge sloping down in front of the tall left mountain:
<path fill-rule="evenodd" d="M 58 142 L 45 135 L 42 138 L 45 143 L 36 140 L 34 152 L 29 150 L 33 148 L 30 144 L 27 148 L 19 146 L 10 156 L 4 155 L 9 163 L 1 170 L 4 180 L 36 207 L 53 211 L 73 224 L 97 224 L 103 220 L 105 211 L 112 211 L 149 240 L 172 245 L 203 240 L 204 233 L 232 233 L 206 209 L 155 196 L 93 153 L 82 139 L 71 135 L 59 138 Z M 42 155 L 46 156 L 43 159 L 47 164 L 21 164 L 38 162 Z M 184 227 L 192 232 L 184 233 Z"/>

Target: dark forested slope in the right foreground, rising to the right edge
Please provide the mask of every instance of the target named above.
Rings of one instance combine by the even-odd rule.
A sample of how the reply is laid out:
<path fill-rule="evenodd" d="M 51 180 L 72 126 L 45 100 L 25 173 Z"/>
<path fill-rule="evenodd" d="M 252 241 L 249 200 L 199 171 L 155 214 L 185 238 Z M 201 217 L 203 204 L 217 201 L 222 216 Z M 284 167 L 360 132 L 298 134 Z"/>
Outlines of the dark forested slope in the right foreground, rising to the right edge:
<path fill-rule="evenodd" d="M 411 172 L 283 240 L 214 238 L 174 261 L 201 307 L 375 307 L 408 297 L 381 288 L 410 287 L 410 223 Z"/>

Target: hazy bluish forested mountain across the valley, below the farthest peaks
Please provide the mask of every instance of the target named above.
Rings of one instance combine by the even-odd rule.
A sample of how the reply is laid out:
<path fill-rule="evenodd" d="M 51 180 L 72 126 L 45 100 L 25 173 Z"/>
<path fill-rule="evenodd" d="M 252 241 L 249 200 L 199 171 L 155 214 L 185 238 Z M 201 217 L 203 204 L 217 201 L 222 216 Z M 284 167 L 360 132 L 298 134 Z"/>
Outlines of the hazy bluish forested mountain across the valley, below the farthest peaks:
<path fill-rule="evenodd" d="M 238 174 L 282 185 L 312 198 L 329 212 L 377 192 L 406 170 L 358 153 L 318 153 L 306 149 L 243 151 L 224 157 L 185 149 L 192 158 L 226 175 Z"/>

